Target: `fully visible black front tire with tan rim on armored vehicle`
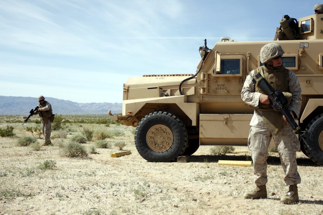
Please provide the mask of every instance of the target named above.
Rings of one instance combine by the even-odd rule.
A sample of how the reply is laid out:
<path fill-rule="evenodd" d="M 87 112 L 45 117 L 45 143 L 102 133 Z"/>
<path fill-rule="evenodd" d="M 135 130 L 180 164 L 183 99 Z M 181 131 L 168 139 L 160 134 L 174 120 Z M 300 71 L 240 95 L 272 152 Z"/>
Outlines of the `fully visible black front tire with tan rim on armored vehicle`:
<path fill-rule="evenodd" d="M 186 149 L 187 130 L 177 116 L 169 112 L 153 112 L 137 125 L 135 145 L 147 161 L 176 161 Z"/>

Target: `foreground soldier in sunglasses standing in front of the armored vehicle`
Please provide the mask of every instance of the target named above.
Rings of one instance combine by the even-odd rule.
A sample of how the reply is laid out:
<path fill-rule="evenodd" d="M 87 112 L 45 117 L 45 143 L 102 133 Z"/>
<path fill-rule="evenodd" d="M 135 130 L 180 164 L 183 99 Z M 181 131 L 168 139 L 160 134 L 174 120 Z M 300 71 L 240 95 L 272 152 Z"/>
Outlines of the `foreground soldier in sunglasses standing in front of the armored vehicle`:
<path fill-rule="evenodd" d="M 244 197 L 246 199 L 267 198 L 266 160 L 269 143 L 273 138 L 285 172 L 284 181 L 289 186 L 287 195 L 281 198 L 281 202 L 291 204 L 298 201 L 297 184 L 301 182 L 296 162 L 296 151 L 299 150 L 300 143 L 285 116 L 273 110 L 268 95 L 253 83 L 255 75 L 261 73 L 274 89 L 279 89 L 284 93 L 289 100 L 287 110 L 294 118 L 298 117 L 301 108 L 301 88 L 296 75 L 282 66 L 284 53 L 279 44 L 264 45 L 260 50 L 260 60 L 264 65 L 250 72 L 241 92 L 242 100 L 255 109 L 250 122 L 248 148 L 251 150 L 254 162 L 257 188 L 245 193 Z"/>

